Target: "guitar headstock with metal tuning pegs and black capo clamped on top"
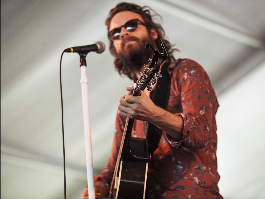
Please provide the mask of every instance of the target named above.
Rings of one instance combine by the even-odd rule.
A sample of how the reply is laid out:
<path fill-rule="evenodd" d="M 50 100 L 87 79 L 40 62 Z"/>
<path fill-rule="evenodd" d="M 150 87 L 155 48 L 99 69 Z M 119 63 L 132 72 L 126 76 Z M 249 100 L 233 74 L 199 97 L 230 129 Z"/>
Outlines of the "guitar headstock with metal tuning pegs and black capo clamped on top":
<path fill-rule="evenodd" d="M 145 88 L 151 91 L 153 89 L 151 85 L 154 85 L 156 83 L 156 77 L 162 77 L 162 75 L 160 74 L 160 66 L 167 58 L 167 52 L 162 40 L 159 40 L 161 42 L 163 52 L 155 49 L 155 47 L 150 44 L 146 44 L 145 46 L 146 49 L 152 48 L 154 54 L 152 58 L 149 59 L 148 65 L 145 65 L 145 70 L 141 72 L 141 76 L 134 85 L 132 94 L 135 96 L 138 96 L 140 94 L 140 91 L 144 90 Z"/>

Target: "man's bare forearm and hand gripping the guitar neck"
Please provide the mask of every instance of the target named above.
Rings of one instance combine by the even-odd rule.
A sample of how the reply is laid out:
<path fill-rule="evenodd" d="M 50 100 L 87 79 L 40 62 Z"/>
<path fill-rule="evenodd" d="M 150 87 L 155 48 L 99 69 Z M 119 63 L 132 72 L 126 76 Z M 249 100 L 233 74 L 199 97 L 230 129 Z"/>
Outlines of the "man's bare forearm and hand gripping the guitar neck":
<path fill-rule="evenodd" d="M 126 87 L 126 90 L 132 92 L 133 87 Z M 119 102 L 119 115 L 150 122 L 176 140 L 182 140 L 182 117 L 156 106 L 144 91 L 141 91 L 139 96 L 126 94 L 120 98 Z"/>

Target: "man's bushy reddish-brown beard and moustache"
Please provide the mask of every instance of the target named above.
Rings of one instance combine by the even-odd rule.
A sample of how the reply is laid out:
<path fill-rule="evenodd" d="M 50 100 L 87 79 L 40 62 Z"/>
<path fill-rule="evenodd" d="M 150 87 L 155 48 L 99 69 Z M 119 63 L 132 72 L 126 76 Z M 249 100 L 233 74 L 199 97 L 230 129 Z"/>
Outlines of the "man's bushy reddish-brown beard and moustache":
<path fill-rule="evenodd" d="M 127 41 L 135 41 L 124 46 Z M 146 44 L 154 46 L 155 42 L 150 37 L 137 38 L 128 36 L 123 38 L 121 42 L 122 52 L 115 53 L 116 58 L 114 61 L 116 69 L 120 74 L 125 74 L 132 79 L 133 74 L 138 73 L 143 65 L 148 64 L 149 58 L 152 58 L 153 50 L 147 50 Z M 129 73 L 129 74 L 127 74 Z"/>

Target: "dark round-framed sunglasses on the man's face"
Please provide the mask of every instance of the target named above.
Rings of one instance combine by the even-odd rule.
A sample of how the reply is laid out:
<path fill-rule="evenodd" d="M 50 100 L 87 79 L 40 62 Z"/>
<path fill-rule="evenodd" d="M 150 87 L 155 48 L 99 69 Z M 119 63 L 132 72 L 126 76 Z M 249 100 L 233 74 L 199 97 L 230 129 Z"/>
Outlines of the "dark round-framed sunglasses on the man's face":
<path fill-rule="evenodd" d="M 135 31 L 135 29 L 138 26 L 138 21 L 141 22 L 142 25 L 144 25 L 146 27 L 145 23 L 142 22 L 142 21 L 140 21 L 139 19 L 132 19 L 130 21 L 127 21 L 121 27 L 124 27 L 128 32 L 133 32 L 133 31 Z M 112 31 L 110 31 L 108 33 L 108 36 L 110 37 L 110 39 L 116 40 L 116 39 L 119 39 L 120 38 L 120 30 L 121 30 L 121 27 L 114 28 Z"/>

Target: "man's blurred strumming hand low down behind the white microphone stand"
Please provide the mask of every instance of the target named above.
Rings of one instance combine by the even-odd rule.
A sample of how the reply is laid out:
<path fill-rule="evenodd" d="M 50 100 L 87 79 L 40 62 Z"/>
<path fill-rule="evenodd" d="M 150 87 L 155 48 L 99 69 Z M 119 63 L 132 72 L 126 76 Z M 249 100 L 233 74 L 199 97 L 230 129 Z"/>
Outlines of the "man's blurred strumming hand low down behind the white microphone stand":
<path fill-rule="evenodd" d="M 108 191 L 109 190 L 107 189 L 104 182 L 102 181 L 95 182 L 95 193 L 100 193 L 100 195 L 96 194 L 95 196 L 96 199 L 108 198 Z M 88 199 L 88 187 L 86 187 L 86 189 L 81 194 L 81 199 Z"/>

